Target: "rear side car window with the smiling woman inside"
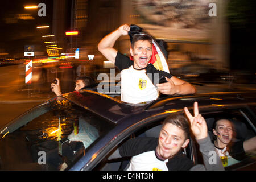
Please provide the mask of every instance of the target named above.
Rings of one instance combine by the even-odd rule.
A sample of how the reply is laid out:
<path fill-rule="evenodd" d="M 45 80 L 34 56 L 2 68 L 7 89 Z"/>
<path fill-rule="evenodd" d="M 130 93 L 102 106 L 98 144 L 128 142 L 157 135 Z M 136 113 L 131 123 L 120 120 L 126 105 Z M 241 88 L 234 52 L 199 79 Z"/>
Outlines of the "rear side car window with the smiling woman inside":
<path fill-rule="evenodd" d="M 250 151 L 245 151 L 243 148 L 244 142 L 255 137 L 255 127 L 251 121 L 247 120 L 242 110 L 226 110 L 203 114 L 203 116 L 207 121 L 208 134 L 226 170 L 241 168 L 256 162 L 256 148 Z M 229 123 L 231 128 L 228 127 Z M 201 162 L 200 152 L 197 152 L 197 156 Z"/>

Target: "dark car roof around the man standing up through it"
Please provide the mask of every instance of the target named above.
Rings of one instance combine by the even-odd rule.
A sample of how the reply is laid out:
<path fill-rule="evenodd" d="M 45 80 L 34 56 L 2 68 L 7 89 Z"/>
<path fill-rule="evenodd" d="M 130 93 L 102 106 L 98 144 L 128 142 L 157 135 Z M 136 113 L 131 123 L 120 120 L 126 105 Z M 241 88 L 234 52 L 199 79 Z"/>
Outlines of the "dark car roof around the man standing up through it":
<path fill-rule="evenodd" d="M 67 100 L 84 107 L 84 109 L 117 124 L 122 121 L 123 118 L 131 114 L 136 113 L 138 115 L 138 113 L 150 110 L 161 111 L 166 109 L 166 105 L 173 109 L 180 109 L 177 107 L 187 106 L 185 104 L 191 104 L 194 101 L 200 101 L 200 104 L 203 104 L 203 102 L 213 102 L 213 100 L 216 104 L 221 104 L 228 100 L 242 103 L 246 102 L 246 98 L 250 101 L 255 101 L 255 93 L 256 92 L 254 91 L 240 91 L 200 93 L 188 96 L 167 96 L 141 104 L 128 104 L 117 98 L 93 90 L 82 90 L 80 93 L 74 91 L 64 94 L 64 97 L 67 98 Z"/>

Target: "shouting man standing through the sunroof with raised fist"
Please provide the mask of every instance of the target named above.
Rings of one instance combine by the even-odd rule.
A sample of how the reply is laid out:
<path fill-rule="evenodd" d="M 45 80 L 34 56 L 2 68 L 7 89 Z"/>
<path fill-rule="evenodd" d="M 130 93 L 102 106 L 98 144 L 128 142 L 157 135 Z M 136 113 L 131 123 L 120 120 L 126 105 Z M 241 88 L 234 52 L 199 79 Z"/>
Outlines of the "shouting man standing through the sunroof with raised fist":
<path fill-rule="evenodd" d="M 135 35 L 131 43 L 129 57 L 114 49 L 115 41 L 128 35 L 130 26 L 123 24 L 117 30 L 106 35 L 98 44 L 98 50 L 121 71 L 121 100 L 132 104 L 152 101 L 158 98 L 158 90 L 162 94 L 193 94 L 196 89 L 170 73 L 160 71 L 149 61 L 152 55 L 152 38 L 147 35 Z M 157 84 L 160 77 L 167 82 Z M 157 88 L 156 88 L 157 87 Z"/>

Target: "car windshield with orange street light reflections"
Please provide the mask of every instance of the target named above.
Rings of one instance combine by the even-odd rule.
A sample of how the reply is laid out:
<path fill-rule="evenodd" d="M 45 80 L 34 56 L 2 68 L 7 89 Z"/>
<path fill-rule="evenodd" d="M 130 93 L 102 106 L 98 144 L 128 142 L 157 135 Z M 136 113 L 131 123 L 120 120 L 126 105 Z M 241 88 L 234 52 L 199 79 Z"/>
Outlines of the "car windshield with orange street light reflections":
<path fill-rule="evenodd" d="M 59 97 L 0 131 L 1 170 L 65 170 L 113 123 Z"/>

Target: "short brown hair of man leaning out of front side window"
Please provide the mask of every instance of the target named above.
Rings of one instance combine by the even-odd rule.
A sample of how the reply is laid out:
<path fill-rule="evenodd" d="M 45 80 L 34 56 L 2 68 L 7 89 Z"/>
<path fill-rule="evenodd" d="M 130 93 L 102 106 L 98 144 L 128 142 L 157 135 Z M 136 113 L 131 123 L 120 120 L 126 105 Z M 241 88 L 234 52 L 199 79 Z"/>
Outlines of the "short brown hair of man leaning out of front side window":
<path fill-rule="evenodd" d="M 190 136 L 189 123 L 183 115 L 176 115 L 176 114 L 170 115 L 169 117 L 164 119 L 163 127 L 166 124 L 172 124 L 172 125 L 175 125 L 175 126 L 179 127 L 181 130 L 184 131 L 185 139 L 189 138 L 189 136 Z"/>

